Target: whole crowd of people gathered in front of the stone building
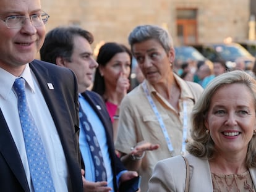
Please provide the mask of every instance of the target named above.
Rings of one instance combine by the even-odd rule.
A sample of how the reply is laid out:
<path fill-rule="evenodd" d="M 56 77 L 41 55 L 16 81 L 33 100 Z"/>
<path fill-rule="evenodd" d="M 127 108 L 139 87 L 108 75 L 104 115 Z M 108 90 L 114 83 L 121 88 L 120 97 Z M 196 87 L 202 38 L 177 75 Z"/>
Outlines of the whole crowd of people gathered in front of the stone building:
<path fill-rule="evenodd" d="M 241 60 L 177 73 L 157 25 L 95 59 L 90 31 L 46 34 L 40 0 L 2 0 L 0 15 L 2 191 L 255 191 L 256 81 Z"/>

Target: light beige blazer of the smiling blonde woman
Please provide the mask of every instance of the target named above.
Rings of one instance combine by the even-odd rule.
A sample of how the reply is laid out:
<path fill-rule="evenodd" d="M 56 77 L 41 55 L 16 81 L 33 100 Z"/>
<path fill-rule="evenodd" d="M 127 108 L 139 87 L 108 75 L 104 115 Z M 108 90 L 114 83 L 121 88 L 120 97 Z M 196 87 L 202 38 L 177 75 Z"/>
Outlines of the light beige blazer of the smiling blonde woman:
<path fill-rule="evenodd" d="M 186 155 L 190 167 L 189 192 L 213 191 L 210 166 L 207 159 Z M 249 169 L 256 186 L 256 168 Z M 149 181 L 149 192 L 184 192 L 186 164 L 182 156 L 159 161 Z"/>

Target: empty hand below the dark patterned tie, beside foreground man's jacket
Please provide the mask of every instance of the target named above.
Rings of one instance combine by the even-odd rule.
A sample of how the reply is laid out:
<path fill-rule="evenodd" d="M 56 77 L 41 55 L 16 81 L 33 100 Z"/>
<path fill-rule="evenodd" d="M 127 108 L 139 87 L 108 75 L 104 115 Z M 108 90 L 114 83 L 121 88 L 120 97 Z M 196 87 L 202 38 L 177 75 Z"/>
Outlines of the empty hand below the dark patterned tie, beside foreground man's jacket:
<path fill-rule="evenodd" d="M 82 180 L 83 180 L 83 191 L 84 192 L 108 192 L 112 188 L 108 187 L 108 182 L 88 182 L 85 180 L 84 174 L 85 170 L 81 170 Z"/>

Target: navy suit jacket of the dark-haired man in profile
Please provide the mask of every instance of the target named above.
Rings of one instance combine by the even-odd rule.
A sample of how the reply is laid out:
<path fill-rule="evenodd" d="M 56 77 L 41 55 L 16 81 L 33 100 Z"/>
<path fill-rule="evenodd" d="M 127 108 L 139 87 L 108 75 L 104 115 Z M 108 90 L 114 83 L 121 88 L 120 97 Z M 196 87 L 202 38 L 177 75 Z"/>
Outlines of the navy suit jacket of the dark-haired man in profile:
<path fill-rule="evenodd" d="M 114 142 L 113 142 L 113 127 L 112 127 L 112 122 L 109 117 L 108 111 L 106 109 L 105 102 L 103 101 L 103 99 L 98 93 L 95 93 L 93 91 L 85 91 L 84 93 L 82 93 L 82 96 L 83 98 L 85 98 L 85 100 L 90 104 L 90 106 L 96 112 L 96 114 L 100 118 L 105 128 L 107 142 L 108 142 L 109 156 L 111 158 L 111 167 L 114 173 L 113 175 L 114 191 L 117 191 L 116 175 L 122 170 L 126 170 L 126 168 L 124 167 L 119 157 L 117 157 L 115 153 Z M 98 109 L 97 106 L 100 106 L 101 109 Z M 87 165 L 85 165 L 85 171 L 86 171 L 86 166 Z"/>

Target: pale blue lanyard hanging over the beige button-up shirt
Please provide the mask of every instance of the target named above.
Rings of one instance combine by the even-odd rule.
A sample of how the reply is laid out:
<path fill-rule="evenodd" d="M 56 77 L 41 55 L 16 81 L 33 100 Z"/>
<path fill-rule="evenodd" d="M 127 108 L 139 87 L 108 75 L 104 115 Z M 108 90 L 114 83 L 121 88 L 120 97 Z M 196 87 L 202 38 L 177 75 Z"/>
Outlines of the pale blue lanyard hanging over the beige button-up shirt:
<path fill-rule="evenodd" d="M 160 113 L 158 112 L 158 109 L 156 108 L 155 102 L 153 101 L 152 97 L 150 96 L 150 93 L 148 91 L 147 85 L 145 83 L 145 81 L 142 83 L 142 87 L 144 92 L 147 95 L 148 101 L 150 102 L 150 106 L 152 107 L 156 118 L 158 119 L 158 122 L 160 123 L 160 127 L 161 130 L 163 131 L 164 134 L 164 138 L 166 140 L 166 143 L 168 145 L 168 149 L 171 152 L 171 154 L 174 153 L 174 149 L 173 149 L 173 145 L 171 144 L 171 139 L 169 138 L 168 132 L 166 130 L 166 127 L 164 125 L 163 119 L 160 115 Z M 182 138 L 182 152 L 184 153 L 186 151 L 186 143 L 187 143 L 187 121 L 188 121 L 188 117 L 187 117 L 187 102 L 183 101 L 183 138 Z"/>

